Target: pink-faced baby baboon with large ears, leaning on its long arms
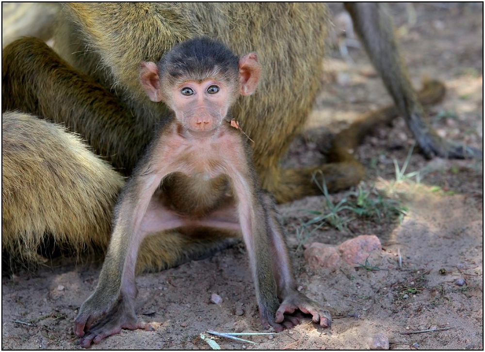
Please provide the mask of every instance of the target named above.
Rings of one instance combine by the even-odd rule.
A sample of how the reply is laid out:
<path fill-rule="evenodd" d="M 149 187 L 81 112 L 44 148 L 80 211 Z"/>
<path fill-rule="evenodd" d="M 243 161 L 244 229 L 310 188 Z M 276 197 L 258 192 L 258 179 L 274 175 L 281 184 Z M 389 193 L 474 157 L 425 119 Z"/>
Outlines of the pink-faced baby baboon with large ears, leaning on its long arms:
<path fill-rule="evenodd" d="M 160 237 L 167 252 L 162 255 L 174 256 L 175 262 L 198 245 L 197 240 L 174 242 L 164 233 L 172 229 L 194 237 L 214 231 L 222 237 L 242 234 L 265 328 L 280 332 L 294 326 L 298 319 L 284 314 L 295 309 L 330 325 L 328 312 L 296 290 L 273 200 L 260 190 L 247 138 L 232 120 L 234 103 L 239 95 L 255 91 L 259 75 L 256 53 L 238 60 L 224 45 L 206 38 L 182 42 L 156 63 L 141 62 L 143 89 L 150 100 L 169 107 L 170 117 L 162 119 L 116 204 L 96 291 L 75 321 L 83 347 L 122 328 L 150 328 L 134 312 L 141 242 Z"/>

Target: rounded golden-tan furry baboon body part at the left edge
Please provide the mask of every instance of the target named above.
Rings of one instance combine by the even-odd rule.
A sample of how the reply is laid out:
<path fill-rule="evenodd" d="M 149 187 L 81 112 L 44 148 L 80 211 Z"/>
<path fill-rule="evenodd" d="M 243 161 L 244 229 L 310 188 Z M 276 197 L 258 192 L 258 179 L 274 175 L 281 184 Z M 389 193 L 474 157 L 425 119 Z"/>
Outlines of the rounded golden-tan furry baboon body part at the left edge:
<path fill-rule="evenodd" d="M 49 235 L 79 250 L 106 248 L 123 184 L 65 128 L 28 114 L 2 114 L 2 249 L 34 260 Z"/>

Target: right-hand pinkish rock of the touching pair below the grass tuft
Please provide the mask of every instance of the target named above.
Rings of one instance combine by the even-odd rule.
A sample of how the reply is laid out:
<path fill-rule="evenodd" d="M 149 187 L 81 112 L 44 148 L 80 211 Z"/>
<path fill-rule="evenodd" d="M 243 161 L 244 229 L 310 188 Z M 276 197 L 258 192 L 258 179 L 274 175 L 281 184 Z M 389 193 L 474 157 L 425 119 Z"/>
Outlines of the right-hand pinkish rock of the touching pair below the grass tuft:
<path fill-rule="evenodd" d="M 358 236 L 345 241 L 337 247 L 337 250 L 346 263 L 364 264 L 373 250 L 381 251 L 381 242 L 374 235 Z"/>

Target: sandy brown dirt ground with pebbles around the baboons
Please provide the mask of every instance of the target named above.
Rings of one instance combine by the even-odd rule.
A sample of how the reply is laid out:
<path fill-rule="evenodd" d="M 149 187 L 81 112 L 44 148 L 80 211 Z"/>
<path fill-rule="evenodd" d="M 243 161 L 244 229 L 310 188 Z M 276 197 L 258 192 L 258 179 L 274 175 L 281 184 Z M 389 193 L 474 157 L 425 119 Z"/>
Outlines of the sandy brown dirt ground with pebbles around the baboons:
<path fill-rule="evenodd" d="M 308 131 L 293 143 L 286 166 L 324 160 L 319 149 L 360 114 L 391 102 L 363 49 L 348 47 L 340 35 L 345 15 L 331 4 L 324 59 L 323 89 Z M 390 5 L 397 37 L 413 82 L 423 75 L 446 83 L 444 101 L 428 108 L 438 133 L 483 150 L 483 4 L 414 3 Z M 350 41 L 347 41 L 350 43 Z M 307 197 L 278 206 L 288 232 L 300 289 L 322 302 L 334 320 L 330 329 L 310 319 L 290 331 L 242 337 L 257 344 L 222 337 L 223 349 L 369 349 L 378 333 L 390 349 L 483 349 L 483 162 L 426 160 L 415 150 L 403 168 L 413 139 L 404 120 L 376 128 L 356 150 L 368 175 L 361 193 L 377 190 L 382 202 L 399 204 L 405 215 L 358 216 L 338 213 L 340 230 L 325 223 L 305 245 L 338 245 L 357 235 L 378 236 L 382 251 L 368 262 L 334 269 L 310 267 L 303 250 L 301 224 L 326 214 L 327 200 L 356 204 L 358 187 L 325 197 Z M 420 171 L 419 177 L 411 173 Z M 399 203 L 397 203 L 399 202 Z M 335 225 L 335 222 L 333 223 Z M 314 227 L 308 226 L 308 230 Z M 398 263 L 398 251 L 402 268 Z M 79 349 L 72 332 L 81 303 L 94 291 L 101 262 L 47 263 L 34 273 L 2 278 L 2 349 Z M 138 314 L 158 328 L 123 330 L 95 349 L 210 349 L 200 334 L 261 332 L 255 292 L 242 245 L 207 260 L 193 261 L 137 278 Z M 461 286 L 460 286 L 461 285 Z M 211 294 L 222 297 L 210 302 Z M 344 317 L 352 315 L 352 317 Z M 419 331 L 425 331 L 417 333 Z"/>

